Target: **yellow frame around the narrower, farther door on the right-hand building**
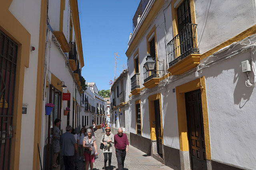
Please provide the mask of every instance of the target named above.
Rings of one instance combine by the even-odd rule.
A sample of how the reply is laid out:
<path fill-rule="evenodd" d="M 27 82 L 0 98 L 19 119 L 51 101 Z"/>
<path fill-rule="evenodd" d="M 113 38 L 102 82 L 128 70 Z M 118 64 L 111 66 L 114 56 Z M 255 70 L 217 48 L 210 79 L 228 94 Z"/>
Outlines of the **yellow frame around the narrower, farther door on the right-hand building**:
<path fill-rule="evenodd" d="M 163 121 L 162 121 L 162 102 L 161 102 L 161 93 L 148 96 L 148 107 L 149 107 L 149 124 L 150 124 L 150 139 L 156 140 L 156 124 L 153 124 L 155 120 L 155 109 L 154 109 L 154 100 L 159 100 L 160 104 L 160 121 L 161 121 L 161 132 L 163 137 Z M 162 144 L 164 140 L 162 139 Z"/>

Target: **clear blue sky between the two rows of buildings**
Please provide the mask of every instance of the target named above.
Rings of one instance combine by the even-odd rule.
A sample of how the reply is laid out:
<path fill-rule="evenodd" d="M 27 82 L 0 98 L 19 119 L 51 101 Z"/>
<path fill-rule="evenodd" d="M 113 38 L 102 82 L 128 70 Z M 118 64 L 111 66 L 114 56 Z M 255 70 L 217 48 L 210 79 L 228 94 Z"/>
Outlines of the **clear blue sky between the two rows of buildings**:
<path fill-rule="evenodd" d="M 78 11 L 84 54 L 82 76 L 95 82 L 98 90 L 108 90 L 114 80 L 115 55 L 118 72 L 127 68 L 125 55 L 132 18 L 140 0 L 78 0 Z"/>

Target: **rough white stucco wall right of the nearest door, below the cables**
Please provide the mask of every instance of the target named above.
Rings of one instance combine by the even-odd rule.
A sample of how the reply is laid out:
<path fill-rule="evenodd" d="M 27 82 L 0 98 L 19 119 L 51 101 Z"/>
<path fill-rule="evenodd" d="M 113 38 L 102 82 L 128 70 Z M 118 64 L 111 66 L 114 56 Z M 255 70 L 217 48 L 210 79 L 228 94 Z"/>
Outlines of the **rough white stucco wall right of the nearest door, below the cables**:
<path fill-rule="evenodd" d="M 250 52 L 203 71 L 212 160 L 254 169 L 256 145 L 255 88 L 246 87 L 241 61 Z"/>

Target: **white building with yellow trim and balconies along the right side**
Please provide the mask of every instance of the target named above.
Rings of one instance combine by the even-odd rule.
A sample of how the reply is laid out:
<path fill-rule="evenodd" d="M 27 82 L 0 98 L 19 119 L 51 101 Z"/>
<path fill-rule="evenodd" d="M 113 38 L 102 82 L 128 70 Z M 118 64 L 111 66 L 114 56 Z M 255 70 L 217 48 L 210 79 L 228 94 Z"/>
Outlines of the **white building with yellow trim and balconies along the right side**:
<path fill-rule="evenodd" d="M 140 2 L 126 51 L 131 145 L 173 169 L 255 169 L 255 8 Z"/>

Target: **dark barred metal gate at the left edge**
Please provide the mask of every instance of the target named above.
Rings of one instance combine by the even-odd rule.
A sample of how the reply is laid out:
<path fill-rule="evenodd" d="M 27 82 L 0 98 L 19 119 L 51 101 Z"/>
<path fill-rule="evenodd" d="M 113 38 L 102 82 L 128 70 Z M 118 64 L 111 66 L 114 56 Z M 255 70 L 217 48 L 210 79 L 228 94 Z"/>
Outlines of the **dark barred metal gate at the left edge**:
<path fill-rule="evenodd" d="M 18 45 L 0 30 L 0 169 L 10 169 Z"/>

